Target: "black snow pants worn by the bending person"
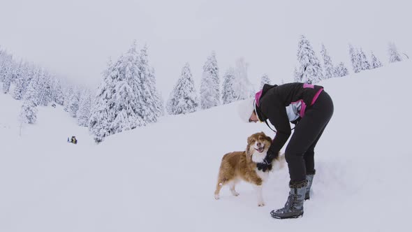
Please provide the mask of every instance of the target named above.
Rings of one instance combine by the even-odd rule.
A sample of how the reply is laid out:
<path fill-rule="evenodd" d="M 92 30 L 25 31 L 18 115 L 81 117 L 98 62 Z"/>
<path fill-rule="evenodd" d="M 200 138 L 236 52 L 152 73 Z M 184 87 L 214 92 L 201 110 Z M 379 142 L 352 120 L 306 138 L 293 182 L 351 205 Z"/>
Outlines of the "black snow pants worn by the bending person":
<path fill-rule="evenodd" d="M 315 173 L 314 149 L 332 115 L 332 99 L 323 90 L 314 105 L 305 110 L 286 147 L 285 158 L 291 183 L 302 182 L 307 174 Z"/>

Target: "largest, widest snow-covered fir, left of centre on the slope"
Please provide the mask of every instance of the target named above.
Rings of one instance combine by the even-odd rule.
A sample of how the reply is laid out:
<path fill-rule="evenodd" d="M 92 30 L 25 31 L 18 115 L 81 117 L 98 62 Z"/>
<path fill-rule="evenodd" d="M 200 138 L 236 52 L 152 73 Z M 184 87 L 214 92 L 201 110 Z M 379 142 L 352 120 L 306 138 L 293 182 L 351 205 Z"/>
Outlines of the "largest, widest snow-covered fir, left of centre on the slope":
<path fill-rule="evenodd" d="M 108 65 L 98 87 L 89 120 L 89 131 L 97 143 L 105 136 L 147 124 L 140 55 L 136 47 L 133 43 L 125 55 Z"/>

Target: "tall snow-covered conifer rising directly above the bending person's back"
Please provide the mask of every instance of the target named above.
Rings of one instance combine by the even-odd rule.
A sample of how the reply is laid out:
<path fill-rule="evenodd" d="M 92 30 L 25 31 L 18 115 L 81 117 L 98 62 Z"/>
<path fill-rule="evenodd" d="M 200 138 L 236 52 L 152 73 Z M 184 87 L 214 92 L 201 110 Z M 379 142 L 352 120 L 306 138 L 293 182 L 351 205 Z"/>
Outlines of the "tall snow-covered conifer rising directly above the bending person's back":
<path fill-rule="evenodd" d="M 323 79 L 321 62 L 311 44 L 304 36 L 300 37 L 297 48 L 297 66 L 295 81 L 315 84 Z"/>

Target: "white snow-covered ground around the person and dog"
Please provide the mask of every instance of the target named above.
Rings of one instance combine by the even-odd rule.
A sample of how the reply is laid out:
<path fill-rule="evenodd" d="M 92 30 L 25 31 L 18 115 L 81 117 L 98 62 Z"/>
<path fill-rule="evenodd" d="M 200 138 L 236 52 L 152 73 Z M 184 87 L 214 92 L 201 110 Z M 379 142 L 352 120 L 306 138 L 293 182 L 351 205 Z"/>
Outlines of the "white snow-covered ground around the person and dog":
<path fill-rule="evenodd" d="M 236 104 L 126 131 L 94 144 L 61 107 L 20 129 L 20 101 L 0 94 L 0 231 L 409 231 L 412 62 L 321 85 L 334 116 L 316 149 L 304 217 L 278 220 L 288 170 L 271 174 L 260 208 L 250 184 L 214 199 L 221 157 L 244 150 L 264 123 Z M 78 145 L 67 143 L 75 135 Z"/>

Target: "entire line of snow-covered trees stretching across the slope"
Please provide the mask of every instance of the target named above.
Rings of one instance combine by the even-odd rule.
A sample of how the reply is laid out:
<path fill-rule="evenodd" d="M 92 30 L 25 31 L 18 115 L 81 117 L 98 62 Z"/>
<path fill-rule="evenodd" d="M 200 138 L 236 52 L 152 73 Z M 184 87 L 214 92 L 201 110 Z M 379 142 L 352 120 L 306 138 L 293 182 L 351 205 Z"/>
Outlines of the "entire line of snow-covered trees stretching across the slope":
<path fill-rule="evenodd" d="M 348 47 L 353 73 L 383 66 L 373 52 L 368 59 L 362 48 L 351 44 Z M 394 43 L 389 44 L 388 55 L 390 63 L 409 59 L 399 54 Z M 220 78 L 216 53 L 211 52 L 203 65 L 199 92 L 191 67 L 186 63 L 164 104 L 156 89 L 155 71 L 148 57 L 147 47 L 139 50 L 134 42 L 119 59 L 108 62 L 101 84 L 96 92 L 92 92 L 57 78 L 45 68 L 15 61 L 12 55 L 0 49 L 1 90 L 22 101 L 20 119 L 23 123 L 36 122 L 38 106 L 62 106 L 80 126 L 89 127 L 96 143 L 106 136 L 155 123 L 165 111 L 169 115 L 193 113 L 247 99 L 255 93 L 248 78 L 248 64 L 243 58 L 237 59 L 234 67 L 226 68 Z M 301 36 L 294 80 L 315 84 L 323 79 L 349 74 L 343 62 L 337 65 L 332 62 L 323 44 L 321 58 L 322 61 L 309 40 Z M 267 74 L 260 78 L 260 89 L 265 84 L 271 84 Z"/>

